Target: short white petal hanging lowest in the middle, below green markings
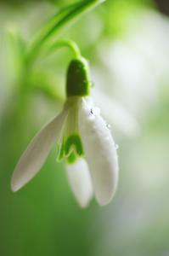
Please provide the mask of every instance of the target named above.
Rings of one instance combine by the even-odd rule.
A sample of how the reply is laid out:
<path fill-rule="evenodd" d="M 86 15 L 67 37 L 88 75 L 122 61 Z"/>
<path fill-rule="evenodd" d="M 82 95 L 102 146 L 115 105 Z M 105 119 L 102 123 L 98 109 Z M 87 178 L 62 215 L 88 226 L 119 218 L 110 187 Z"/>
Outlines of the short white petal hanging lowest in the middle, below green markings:
<path fill-rule="evenodd" d="M 75 164 L 66 165 L 66 172 L 76 201 L 82 208 L 87 207 L 93 197 L 93 184 L 87 161 L 78 158 Z"/>

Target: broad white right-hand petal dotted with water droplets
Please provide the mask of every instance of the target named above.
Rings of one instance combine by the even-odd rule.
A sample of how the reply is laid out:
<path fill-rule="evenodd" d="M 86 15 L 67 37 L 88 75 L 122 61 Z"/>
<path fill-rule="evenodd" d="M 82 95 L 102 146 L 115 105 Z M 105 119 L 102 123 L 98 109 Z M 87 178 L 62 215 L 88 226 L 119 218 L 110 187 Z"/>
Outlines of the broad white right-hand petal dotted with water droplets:
<path fill-rule="evenodd" d="M 118 160 L 115 142 L 101 116 L 94 116 L 82 106 L 79 128 L 93 189 L 100 206 L 107 205 L 115 194 L 118 182 Z"/>

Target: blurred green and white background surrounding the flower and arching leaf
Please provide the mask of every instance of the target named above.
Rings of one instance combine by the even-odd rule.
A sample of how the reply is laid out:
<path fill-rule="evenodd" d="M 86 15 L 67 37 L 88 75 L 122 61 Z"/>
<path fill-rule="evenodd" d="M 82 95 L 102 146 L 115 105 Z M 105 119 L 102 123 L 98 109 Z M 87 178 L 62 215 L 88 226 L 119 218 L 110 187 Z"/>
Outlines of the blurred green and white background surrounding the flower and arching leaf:
<path fill-rule="evenodd" d="M 0 255 L 168 256 L 169 7 L 163 1 L 107 0 L 63 35 L 90 61 L 92 94 L 119 144 L 119 185 L 110 205 L 100 208 L 93 199 L 87 209 L 78 207 L 64 163 L 55 161 L 57 145 L 30 183 L 15 194 L 10 189 L 20 155 L 62 109 L 72 58 L 59 49 L 23 74 L 14 33 L 29 41 L 75 2 L 0 2 Z"/>

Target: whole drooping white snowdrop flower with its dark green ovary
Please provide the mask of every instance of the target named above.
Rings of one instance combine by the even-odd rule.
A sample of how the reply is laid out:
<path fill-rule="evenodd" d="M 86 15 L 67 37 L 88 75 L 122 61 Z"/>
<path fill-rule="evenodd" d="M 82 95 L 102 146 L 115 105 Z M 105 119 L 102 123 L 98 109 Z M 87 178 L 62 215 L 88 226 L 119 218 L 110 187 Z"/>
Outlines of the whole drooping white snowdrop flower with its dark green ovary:
<path fill-rule="evenodd" d="M 93 193 L 99 206 L 110 203 L 118 182 L 115 142 L 110 126 L 99 115 L 99 108 L 93 106 L 89 81 L 87 61 L 82 57 L 71 61 L 64 109 L 25 149 L 11 180 L 14 192 L 39 172 L 58 139 L 57 160 L 65 159 L 70 188 L 79 205 L 87 207 Z"/>

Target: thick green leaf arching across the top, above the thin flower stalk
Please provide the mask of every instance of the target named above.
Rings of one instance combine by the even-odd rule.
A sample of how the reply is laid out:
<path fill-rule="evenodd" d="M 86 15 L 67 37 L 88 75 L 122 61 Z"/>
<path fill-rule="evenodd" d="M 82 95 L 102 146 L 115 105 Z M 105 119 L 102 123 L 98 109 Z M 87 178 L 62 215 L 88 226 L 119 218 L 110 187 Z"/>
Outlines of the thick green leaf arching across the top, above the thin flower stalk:
<path fill-rule="evenodd" d="M 25 65 L 30 66 L 37 58 L 39 51 L 48 48 L 44 45 L 46 42 L 48 43 L 48 40 L 56 41 L 56 39 L 75 23 L 77 19 L 104 1 L 105 0 L 86 0 L 73 4 L 60 11 L 59 14 L 55 15 L 51 20 L 48 20 L 45 26 L 42 26 L 42 29 L 37 32 L 37 35 L 33 38 L 31 43 L 28 44 L 25 51 Z"/>

